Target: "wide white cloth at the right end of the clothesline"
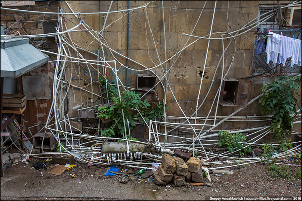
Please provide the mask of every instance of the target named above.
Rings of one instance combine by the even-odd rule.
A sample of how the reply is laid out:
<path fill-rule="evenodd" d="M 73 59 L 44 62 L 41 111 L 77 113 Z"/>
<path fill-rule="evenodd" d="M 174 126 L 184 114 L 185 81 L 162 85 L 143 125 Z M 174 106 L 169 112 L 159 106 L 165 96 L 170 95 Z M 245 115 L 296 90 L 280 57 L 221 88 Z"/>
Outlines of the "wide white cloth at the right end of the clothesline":
<path fill-rule="evenodd" d="M 285 66 L 286 60 L 291 57 L 290 66 L 301 65 L 301 40 L 287 36 L 281 37 L 279 49 L 279 63 Z"/>

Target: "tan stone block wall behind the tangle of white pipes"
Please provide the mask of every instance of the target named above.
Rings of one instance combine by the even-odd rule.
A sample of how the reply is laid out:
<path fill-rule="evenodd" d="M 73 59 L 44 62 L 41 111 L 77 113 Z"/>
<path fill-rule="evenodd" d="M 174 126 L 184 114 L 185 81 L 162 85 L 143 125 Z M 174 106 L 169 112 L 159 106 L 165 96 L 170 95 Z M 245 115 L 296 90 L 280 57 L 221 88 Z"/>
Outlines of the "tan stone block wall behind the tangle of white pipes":
<path fill-rule="evenodd" d="M 269 2 L 269 3 L 268 3 Z M 68 1 L 74 12 L 98 12 L 107 11 L 110 5 L 110 1 Z M 256 18 L 258 16 L 258 5 L 259 4 L 272 4 L 272 1 L 218 1 L 216 6 L 216 13 L 213 23 L 213 32 L 232 32 L 241 28 L 246 22 Z M 290 3 L 290 1 L 282 1 L 282 4 Z M 194 35 L 204 36 L 210 31 L 211 20 L 213 16 L 214 1 L 208 1 L 201 19 L 196 26 Z M 130 1 L 130 8 L 138 7 L 143 5 L 142 1 Z M 182 33 L 190 34 L 194 25 L 198 19 L 200 11 L 204 5 L 204 1 L 164 1 L 164 18 L 165 18 L 165 31 L 166 31 L 166 44 L 167 44 L 167 58 L 176 53 L 179 41 Z M 242 8 L 241 8 L 242 6 Z M 152 34 L 155 40 L 155 46 L 152 40 L 151 32 L 148 27 L 146 20 L 145 10 L 139 9 L 130 12 L 130 32 L 129 32 L 129 58 L 139 62 L 147 68 L 158 65 L 156 49 L 158 50 L 161 62 L 165 60 L 165 48 L 164 48 L 164 27 L 163 27 L 163 14 L 161 1 L 156 1 L 147 6 L 147 14 L 152 29 Z M 122 10 L 127 8 L 127 1 L 115 1 L 111 8 L 111 11 Z M 177 8 L 177 9 L 173 9 Z M 186 9 L 187 8 L 187 9 Z M 228 9 L 229 8 L 229 9 Z M 66 12 L 70 10 L 67 6 L 64 6 Z M 101 15 L 87 15 L 81 16 L 81 20 L 84 20 L 92 29 L 100 31 L 103 27 L 104 19 L 106 14 Z M 78 20 L 74 16 L 69 16 L 70 21 L 67 21 L 68 28 L 71 28 L 75 24 L 78 24 Z M 72 19 L 71 19 L 72 18 Z M 116 22 L 115 22 L 116 21 Z M 110 26 L 108 26 L 110 25 Z M 127 15 L 126 12 L 112 13 L 109 14 L 106 22 L 107 29 L 104 30 L 104 38 L 108 45 L 115 51 L 126 55 L 127 50 Z M 226 76 L 226 78 L 235 78 L 240 81 L 240 84 L 246 85 L 245 92 L 247 93 L 248 100 L 258 96 L 261 93 L 261 87 L 264 83 L 271 82 L 274 78 L 269 77 L 257 77 L 257 78 L 243 78 L 251 75 L 252 69 L 252 58 L 254 48 L 254 34 L 255 30 L 249 31 L 243 35 L 236 37 L 236 44 L 234 41 L 231 43 L 229 49 L 225 53 L 225 69 L 229 67 L 232 56 L 235 52 L 235 58 L 233 65 Z M 97 53 L 99 43 L 94 40 L 93 37 L 87 32 L 70 33 L 73 42 L 80 46 Z M 214 35 L 214 37 L 220 37 L 220 34 Z M 180 48 L 185 44 L 188 37 L 184 37 L 180 45 Z M 92 42 L 93 41 L 93 42 Z M 189 43 L 194 41 L 192 38 Z M 224 40 L 224 45 L 229 43 L 229 39 Z M 156 47 L 156 48 L 155 48 Z M 202 76 L 202 70 L 205 62 L 205 55 L 207 49 L 207 40 L 201 39 L 195 44 L 188 47 L 182 52 L 178 61 L 175 63 L 174 68 L 171 71 L 169 83 L 171 89 L 187 116 L 190 116 L 196 107 L 196 101 L 198 96 L 199 85 Z M 84 54 L 87 59 L 96 59 L 92 54 Z M 214 76 L 215 68 L 222 55 L 222 42 L 221 40 L 212 40 L 209 46 L 208 57 L 206 61 L 206 68 L 204 78 L 202 82 L 201 95 L 199 104 L 205 97 L 205 94 L 210 88 L 212 77 Z M 121 62 L 126 64 L 126 59 L 123 57 L 112 54 L 108 48 L 105 48 L 105 58 L 107 60 L 113 60 L 114 57 Z M 173 61 L 167 62 L 169 68 Z M 69 65 L 70 66 L 70 65 Z M 71 76 L 70 68 L 68 73 L 72 83 L 78 86 L 90 83 L 89 74 L 85 65 L 80 65 L 84 70 L 80 70 L 81 79 L 77 78 L 78 75 L 74 74 Z M 113 65 L 112 65 L 113 66 Z M 96 66 L 94 66 L 96 69 Z M 117 65 L 119 68 L 120 65 Z M 143 66 L 138 65 L 134 62 L 129 61 L 129 67 L 134 69 L 144 69 Z M 166 65 L 163 65 L 165 69 Z M 78 69 L 74 68 L 74 69 Z M 79 68 L 80 69 L 80 68 Z M 85 70 L 86 69 L 86 70 Z M 90 67 L 93 80 L 97 80 L 97 71 Z M 160 78 L 163 76 L 163 69 L 158 67 L 152 71 Z M 216 78 L 213 83 L 213 87 L 209 96 L 206 98 L 203 106 L 198 111 L 198 116 L 207 116 L 208 111 L 213 103 L 215 94 L 218 90 L 221 78 L 222 62 L 218 68 Z M 101 71 L 101 70 L 100 70 Z M 101 71 L 102 72 L 102 71 Z M 76 72 L 77 73 L 77 72 Z M 151 72 L 142 72 L 151 74 Z M 69 77 L 69 75 L 67 77 Z M 107 75 L 111 82 L 115 82 L 115 76 L 112 71 L 107 69 Z M 119 78 L 126 84 L 126 70 L 121 68 L 118 72 Z M 136 88 L 137 72 L 128 71 L 128 82 L 129 87 Z M 86 88 L 90 91 L 90 87 Z M 100 94 L 97 85 L 94 85 L 94 93 Z M 159 100 L 162 102 L 164 97 L 164 91 L 162 86 L 159 84 L 156 87 L 156 93 Z M 77 95 L 81 94 L 81 95 Z M 84 106 L 90 105 L 90 95 L 85 96 L 83 91 L 75 89 L 75 93 L 69 93 L 69 113 L 72 116 L 77 116 L 76 111 L 72 111 L 71 108 L 78 104 Z M 94 103 L 101 103 L 100 98 L 94 96 Z M 299 99 L 299 103 L 301 100 Z M 179 109 L 176 101 L 174 100 L 171 91 L 167 92 L 167 105 L 169 110 L 167 115 L 170 116 L 183 116 Z M 210 116 L 214 115 L 216 102 L 214 108 L 210 113 Z M 237 110 L 239 106 L 221 106 L 218 104 L 218 116 L 227 116 Z M 238 115 L 261 115 L 261 105 L 258 101 L 249 105 L 246 109 L 241 110 Z M 176 120 L 179 121 L 179 120 Z M 200 121 L 202 123 L 202 121 Z M 212 124 L 213 121 L 207 123 Z M 269 122 L 225 122 L 223 125 L 216 129 L 240 129 L 248 128 L 257 125 L 263 125 Z M 199 127 L 198 127 L 199 128 Z M 201 128 L 201 127 L 200 127 Z M 209 127 L 205 127 L 209 128 Z M 163 130 L 162 130 L 163 131 Z M 174 134 L 177 134 L 175 132 Z"/>

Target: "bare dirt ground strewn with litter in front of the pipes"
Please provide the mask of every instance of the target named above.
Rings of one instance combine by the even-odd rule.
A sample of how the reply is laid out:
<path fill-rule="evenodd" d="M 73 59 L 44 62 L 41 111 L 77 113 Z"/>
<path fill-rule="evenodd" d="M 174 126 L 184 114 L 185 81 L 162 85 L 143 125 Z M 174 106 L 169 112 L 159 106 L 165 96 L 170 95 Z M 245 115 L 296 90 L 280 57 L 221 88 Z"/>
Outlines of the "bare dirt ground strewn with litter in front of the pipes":
<path fill-rule="evenodd" d="M 205 200 L 208 196 L 301 196 L 301 179 L 273 178 L 266 170 L 267 165 L 260 163 L 242 166 L 234 170 L 233 175 L 212 175 L 213 187 L 189 183 L 166 187 L 157 186 L 152 176 L 147 179 L 126 177 L 128 182 L 122 184 L 119 181 L 124 176 L 102 176 L 108 166 L 88 167 L 80 162 L 76 162 L 77 167 L 56 176 L 48 173 L 54 164 L 43 170 L 31 168 L 37 161 L 45 162 L 45 159 L 6 166 L 4 177 L 1 177 L 1 200 Z M 75 174 L 75 178 L 71 174 Z"/>

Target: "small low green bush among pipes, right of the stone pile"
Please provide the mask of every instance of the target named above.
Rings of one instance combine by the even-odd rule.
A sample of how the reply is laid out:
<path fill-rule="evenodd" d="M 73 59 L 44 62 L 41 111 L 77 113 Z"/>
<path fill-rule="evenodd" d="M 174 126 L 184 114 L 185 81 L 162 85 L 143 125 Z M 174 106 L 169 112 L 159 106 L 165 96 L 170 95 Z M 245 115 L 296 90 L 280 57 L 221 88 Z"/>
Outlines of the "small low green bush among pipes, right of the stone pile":
<path fill-rule="evenodd" d="M 240 142 L 244 140 L 246 140 L 246 137 L 242 133 L 230 134 L 229 131 L 219 131 L 219 141 L 217 144 L 219 147 L 225 147 L 230 152 L 233 152 L 234 150 L 243 148 Z"/>

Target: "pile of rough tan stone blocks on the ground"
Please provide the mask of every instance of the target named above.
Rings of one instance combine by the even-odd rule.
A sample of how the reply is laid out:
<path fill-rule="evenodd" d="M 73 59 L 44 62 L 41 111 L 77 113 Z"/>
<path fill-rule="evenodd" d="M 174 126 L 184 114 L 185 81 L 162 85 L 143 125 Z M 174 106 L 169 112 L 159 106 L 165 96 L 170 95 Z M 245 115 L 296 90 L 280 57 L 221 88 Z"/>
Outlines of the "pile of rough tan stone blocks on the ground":
<path fill-rule="evenodd" d="M 194 182 L 208 182 L 208 178 L 203 179 L 203 174 L 208 172 L 202 171 L 202 162 L 197 158 L 191 157 L 190 160 L 185 163 L 182 158 L 175 158 L 169 154 L 162 156 L 162 163 L 159 165 L 156 172 L 153 172 L 153 176 L 156 179 L 157 185 L 167 185 L 170 181 L 175 186 L 185 185 L 185 181 Z"/>

